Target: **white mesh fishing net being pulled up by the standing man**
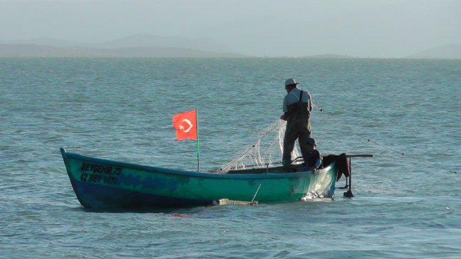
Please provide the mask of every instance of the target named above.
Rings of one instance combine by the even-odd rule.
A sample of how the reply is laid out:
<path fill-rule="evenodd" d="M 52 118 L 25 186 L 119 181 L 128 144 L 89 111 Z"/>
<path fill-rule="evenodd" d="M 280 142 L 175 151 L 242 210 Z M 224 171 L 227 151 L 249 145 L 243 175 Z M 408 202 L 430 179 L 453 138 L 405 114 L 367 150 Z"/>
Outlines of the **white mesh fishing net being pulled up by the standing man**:
<path fill-rule="evenodd" d="M 242 155 L 239 155 L 239 157 L 215 172 L 226 173 L 229 170 L 266 168 L 267 166 L 281 164 L 285 128 L 285 121 L 277 120 L 273 122 L 257 133 L 254 144 L 247 148 Z M 299 152 L 295 146 L 292 157 L 298 157 L 298 154 Z"/>

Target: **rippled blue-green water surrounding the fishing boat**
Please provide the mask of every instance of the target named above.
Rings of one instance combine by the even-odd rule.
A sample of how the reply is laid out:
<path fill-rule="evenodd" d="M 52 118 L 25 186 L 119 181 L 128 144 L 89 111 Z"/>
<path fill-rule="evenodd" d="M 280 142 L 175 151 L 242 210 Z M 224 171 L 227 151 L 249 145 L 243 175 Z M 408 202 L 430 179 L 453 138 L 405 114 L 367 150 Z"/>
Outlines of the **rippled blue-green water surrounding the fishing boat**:
<path fill-rule="evenodd" d="M 461 258 L 461 60 L 0 58 L 0 258 Z M 286 78 L 312 93 L 324 154 L 353 199 L 85 210 L 68 152 L 195 170 L 171 116 L 198 108 L 200 167 L 278 120 Z M 343 185 L 341 179 L 338 185 Z"/>

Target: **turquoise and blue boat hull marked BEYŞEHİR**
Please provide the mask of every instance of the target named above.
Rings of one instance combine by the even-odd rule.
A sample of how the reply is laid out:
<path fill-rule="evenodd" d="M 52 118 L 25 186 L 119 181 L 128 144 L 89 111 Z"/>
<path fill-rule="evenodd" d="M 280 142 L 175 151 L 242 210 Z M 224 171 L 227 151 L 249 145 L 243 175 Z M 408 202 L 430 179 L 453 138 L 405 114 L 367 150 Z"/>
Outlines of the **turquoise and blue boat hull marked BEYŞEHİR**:
<path fill-rule="evenodd" d="M 173 170 L 67 153 L 61 155 L 78 201 L 87 208 L 189 207 L 219 199 L 282 203 L 308 194 L 332 197 L 338 168 L 284 172 L 281 167 L 227 174 Z M 266 170 L 266 171 L 264 171 Z"/>

